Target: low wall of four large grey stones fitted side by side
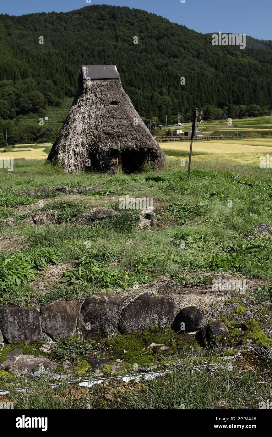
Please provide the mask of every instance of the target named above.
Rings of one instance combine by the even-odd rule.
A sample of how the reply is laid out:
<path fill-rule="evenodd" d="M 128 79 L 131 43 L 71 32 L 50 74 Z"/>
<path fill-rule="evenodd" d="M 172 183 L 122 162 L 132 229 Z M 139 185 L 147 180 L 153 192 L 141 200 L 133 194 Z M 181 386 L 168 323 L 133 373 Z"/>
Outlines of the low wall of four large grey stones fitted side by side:
<path fill-rule="evenodd" d="M 73 335 L 104 337 L 115 331 L 143 332 L 150 326 L 171 326 L 175 304 L 162 295 L 144 293 L 126 302 L 114 293 L 100 293 L 80 301 L 57 300 L 40 309 L 0 307 L 0 340 L 25 344 L 47 335 L 60 340 Z"/>

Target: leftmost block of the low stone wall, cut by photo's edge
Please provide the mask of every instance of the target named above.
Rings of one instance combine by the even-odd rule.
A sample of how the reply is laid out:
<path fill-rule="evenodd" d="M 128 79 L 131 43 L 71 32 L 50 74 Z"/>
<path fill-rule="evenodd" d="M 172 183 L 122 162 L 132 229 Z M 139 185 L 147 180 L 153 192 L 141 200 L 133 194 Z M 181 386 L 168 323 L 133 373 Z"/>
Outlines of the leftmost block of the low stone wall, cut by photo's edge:
<path fill-rule="evenodd" d="M 8 343 L 33 343 L 41 338 L 40 313 L 33 307 L 0 307 L 0 329 Z"/>

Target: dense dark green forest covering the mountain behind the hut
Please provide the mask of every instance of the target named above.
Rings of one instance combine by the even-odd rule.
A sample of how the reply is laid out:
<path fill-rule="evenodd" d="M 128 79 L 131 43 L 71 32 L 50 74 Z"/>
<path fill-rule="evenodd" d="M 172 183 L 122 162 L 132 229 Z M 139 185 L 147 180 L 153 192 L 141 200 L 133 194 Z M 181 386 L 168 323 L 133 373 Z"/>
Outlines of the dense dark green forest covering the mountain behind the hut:
<path fill-rule="evenodd" d="M 0 130 L 15 132 L 16 122 L 37 114 L 35 129 L 51 140 L 39 116 L 74 96 L 79 70 L 90 64 L 116 64 L 141 117 L 163 123 L 166 115 L 176 121 L 179 111 L 188 118 L 196 106 L 206 118 L 236 118 L 241 105 L 246 115 L 262 115 L 272 106 L 272 42 L 247 37 L 244 50 L 213 46 L 211 35 L 155 14 L 92 5 L 66 13 L 0 15 Z M 17 136 L 10 141 L 20 141 Z"/>

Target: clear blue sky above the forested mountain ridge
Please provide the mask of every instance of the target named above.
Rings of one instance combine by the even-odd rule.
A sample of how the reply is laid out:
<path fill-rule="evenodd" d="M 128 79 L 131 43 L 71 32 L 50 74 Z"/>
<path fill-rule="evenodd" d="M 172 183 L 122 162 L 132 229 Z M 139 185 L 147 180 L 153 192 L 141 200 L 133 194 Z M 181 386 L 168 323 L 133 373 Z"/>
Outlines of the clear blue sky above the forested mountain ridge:
<path fill-rule="evenodd" d="M 86 0 L 0 0 L 0 13 L 10 15 L 56 12 L 88 6 Z M 144 9 L 198 32 L 228 32 L 272 39 L 272 0 L 91 0 Z"/>

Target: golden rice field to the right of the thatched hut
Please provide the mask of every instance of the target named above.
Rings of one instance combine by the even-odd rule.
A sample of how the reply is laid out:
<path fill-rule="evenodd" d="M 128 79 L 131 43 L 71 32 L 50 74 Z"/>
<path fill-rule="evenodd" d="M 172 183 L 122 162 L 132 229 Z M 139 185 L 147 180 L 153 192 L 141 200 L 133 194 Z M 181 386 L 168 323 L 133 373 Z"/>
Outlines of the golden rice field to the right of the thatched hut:
<path fill-rule="evenodd" d="M 190 142 L 164 142 L 161 147 L 168 159 L 180 160 L 186 157 L 185 153 L 189 154 Z M 269 153 L 272 153 L 272 137 L 193 142 L 194 160 L 223 160 L 259 166 L 260 156 Z"/>

